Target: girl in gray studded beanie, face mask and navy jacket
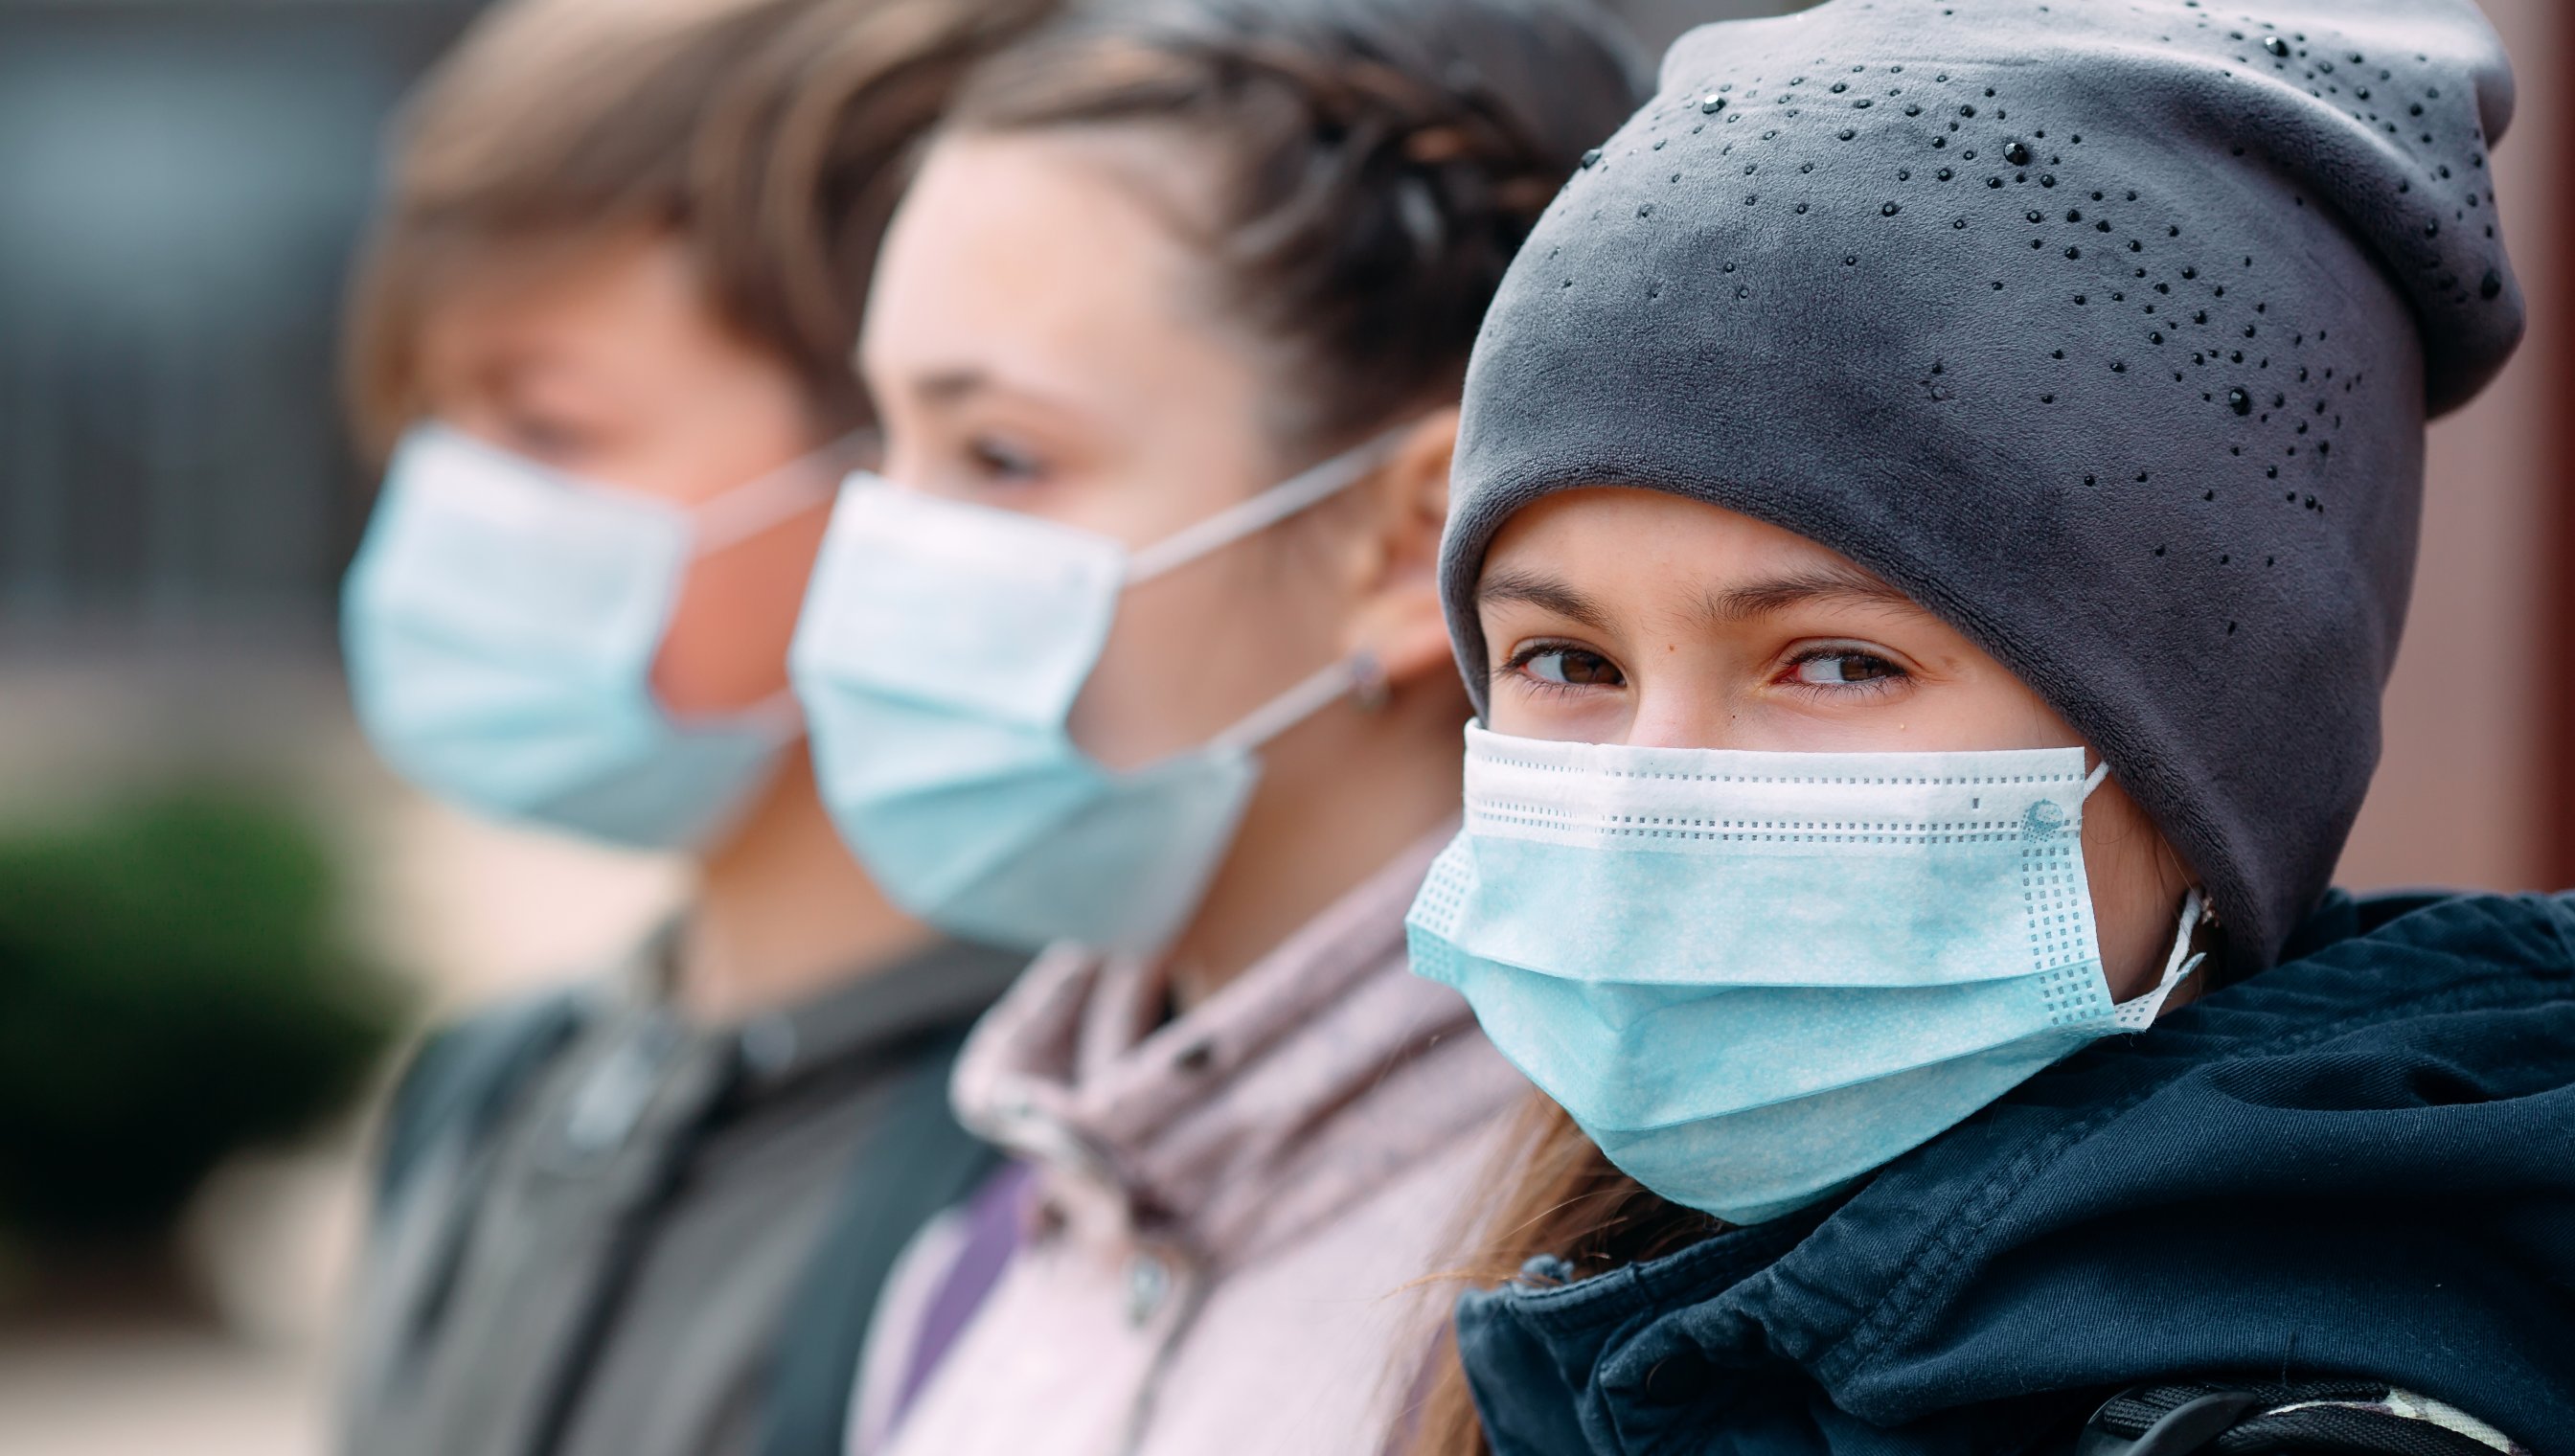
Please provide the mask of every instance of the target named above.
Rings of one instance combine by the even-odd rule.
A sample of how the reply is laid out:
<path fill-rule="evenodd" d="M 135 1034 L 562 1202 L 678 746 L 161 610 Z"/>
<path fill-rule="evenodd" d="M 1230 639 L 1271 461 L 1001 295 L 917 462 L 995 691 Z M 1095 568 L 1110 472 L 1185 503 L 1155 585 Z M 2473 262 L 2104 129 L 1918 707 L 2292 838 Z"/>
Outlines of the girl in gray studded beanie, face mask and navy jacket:
<path fill-rule="evenodd" d="M 1540 1106 L 1416 1451 L 2575 1451 L 2575 907 L 2328 889 L 2464 0 L 1707 26 L 1475 345 L 1414 964 Z"/>

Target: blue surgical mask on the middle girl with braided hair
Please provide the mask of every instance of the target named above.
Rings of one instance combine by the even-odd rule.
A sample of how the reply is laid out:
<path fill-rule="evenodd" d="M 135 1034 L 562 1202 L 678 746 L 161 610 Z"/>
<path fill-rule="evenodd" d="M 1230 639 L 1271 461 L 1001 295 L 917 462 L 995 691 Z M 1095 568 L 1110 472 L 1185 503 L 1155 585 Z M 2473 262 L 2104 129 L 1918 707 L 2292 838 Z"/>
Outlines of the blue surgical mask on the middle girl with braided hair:
<path fill-rule="evenodd" d="M 1066 732 L 1120 595 L 1365 479 L 1393 438 L 1143 551 L 852 477 L 791 675 L 824 804 L 896 905 L 997 946 L 1148 956 L 1187 923 L 1259 781 L 1257 750 L 1362 683 L 1324 667 L 1138 771 Z M 1208 642 L 1208 652 L 1223 652 Z"/>

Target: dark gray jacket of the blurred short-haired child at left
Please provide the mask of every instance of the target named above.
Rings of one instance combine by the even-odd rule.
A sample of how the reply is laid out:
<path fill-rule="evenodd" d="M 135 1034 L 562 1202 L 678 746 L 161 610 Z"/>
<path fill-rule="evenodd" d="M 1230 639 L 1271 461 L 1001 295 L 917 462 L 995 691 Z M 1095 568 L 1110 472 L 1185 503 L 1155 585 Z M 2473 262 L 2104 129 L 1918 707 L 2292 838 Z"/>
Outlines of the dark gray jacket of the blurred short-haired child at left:
<path fill-rule="evenodd" d="M 384 1134 L 348 1456 L 839 1456 L 896 1252 L 991 1154 L 948 1067 L 1022 959 L 739 1028 L 631 974 L 435 1039 Z"/>

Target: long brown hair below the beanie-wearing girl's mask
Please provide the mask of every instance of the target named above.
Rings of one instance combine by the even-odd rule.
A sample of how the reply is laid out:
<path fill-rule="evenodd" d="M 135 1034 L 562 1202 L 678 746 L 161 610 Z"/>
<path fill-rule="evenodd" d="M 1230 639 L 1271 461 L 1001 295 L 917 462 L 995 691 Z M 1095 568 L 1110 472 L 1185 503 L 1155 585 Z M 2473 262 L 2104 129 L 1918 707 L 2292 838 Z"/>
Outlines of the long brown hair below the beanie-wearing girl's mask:
<path fill-rule="evenodd" d="M 1488 1185 L 1509 1188 L 1468 1234 L 1470 1252 L 1437 1283 L 1491 1288 L 1514 1278 L 1573 1281 L 1679 1252 L 1725 1224 L 1653 1196 L 1573 1126 L 1566 1108 L 1530 1093 L 1504 1136 Z M 1540 1270 L 1532 1260 L 1560 1260 Z M 1457 1345 L 1442 1340 L 1421 1404 L 1406 1417 L 1406 1456 L 1488 1456 L 1483 1420 Z"/>

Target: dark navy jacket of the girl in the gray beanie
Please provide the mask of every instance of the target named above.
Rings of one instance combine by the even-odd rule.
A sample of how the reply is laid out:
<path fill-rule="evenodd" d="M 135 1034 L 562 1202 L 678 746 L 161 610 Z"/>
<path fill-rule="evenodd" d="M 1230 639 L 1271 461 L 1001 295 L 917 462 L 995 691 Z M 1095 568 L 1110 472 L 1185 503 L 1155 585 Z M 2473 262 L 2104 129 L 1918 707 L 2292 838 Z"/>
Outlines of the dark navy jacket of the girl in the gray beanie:
<path fill-rule="evenodd" d="M 1496 1456 L 2009 1456 L 2369 1376 L 2575 1453 L 2575 902 L 2333 897 L 1836 1209 L 1457 1309 Z"/>

